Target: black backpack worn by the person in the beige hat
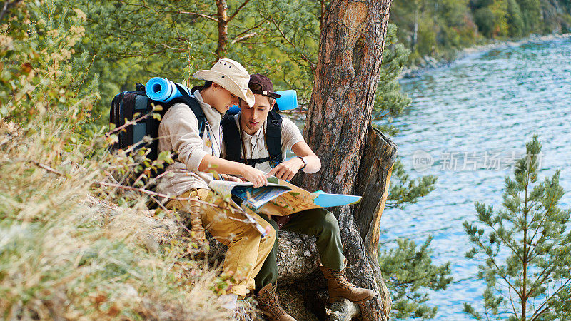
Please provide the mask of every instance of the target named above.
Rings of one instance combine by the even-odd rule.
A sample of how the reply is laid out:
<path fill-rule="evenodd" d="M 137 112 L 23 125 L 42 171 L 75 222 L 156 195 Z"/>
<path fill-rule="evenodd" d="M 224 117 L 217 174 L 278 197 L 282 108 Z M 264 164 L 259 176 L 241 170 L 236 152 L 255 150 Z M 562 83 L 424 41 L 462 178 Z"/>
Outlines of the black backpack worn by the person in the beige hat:
<path fill-rule="evenodd" d="M 183 96 L 175 98 L 168 103 L 149 99 L 145 93 L 145 86 L 141 83 L 137 83 L 135 91 L 123 91 L 122 93 L 118 93 L 113 97 L 113 101 L 111 101 L 111 111 L 109 112 L 110 123 L 115 124 L 116 127 L 123 126 L 126 121 L 133 121 L 134 119 L 141 118 L 141 116 L 149 113 L 158 113 L 162 118 L 166 111 L 168 111 L 168 108 L 173 106 L 175 103 L 186 103 L 198 119 L 198 130 L 200 131 L 200 137 L 202 137 L 206 127 L 206 116 L 204 115 L 201 106 L 198 104 L 198 101 L 189 96 L 181 86 L 176 84 L 176 87 Z M 163 110 L 153 111 L 153 106 L 151 104 L 154 104 L 155 106 L 161 105 Z M 161 123 L 161 121 L 158 119 L 153 118 L 153 116 L 148 116 L 141 121 L 137 121 L 134 126 L 126 126 L 124 130 L 117 133 L 118 141 L 113 143 L 111 151 L 128 148 L 129 146 L 133 146 L 133 144 L 137 144 L 135 150 L 146 146 L 151 149 L 151 152 L 147 157 L 151 159 L 151 161 L 156 160 L 158 156 L 159 123 Z M 151 142 L 141 143 L 144 136 L 150 137 Z M 173 156 L 173 158 L 176 158 L 176 156 Z"/>

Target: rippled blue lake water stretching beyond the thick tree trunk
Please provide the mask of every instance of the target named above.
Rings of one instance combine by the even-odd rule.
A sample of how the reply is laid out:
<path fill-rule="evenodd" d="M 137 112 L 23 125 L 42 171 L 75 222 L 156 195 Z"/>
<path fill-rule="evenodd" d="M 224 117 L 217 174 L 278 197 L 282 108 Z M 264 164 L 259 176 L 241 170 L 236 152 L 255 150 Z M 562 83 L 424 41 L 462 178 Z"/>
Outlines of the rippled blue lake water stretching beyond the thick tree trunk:
<path fill-rule="evenodd" d="M 471 54 L 401 85 L 413 103 L 394 121 L 398 156 L 411 177 L 437 175 L 438 183 L 417 204 L 383 212 L 380 242 L 433 235 L 433 261 L 450 262 L 454 282 L 430 292 L 429 304 L 437 320 L 468 319 L 463 302 L 480 305 L 485 284 L 464 257 L 462 223 L 475 220 L 475 201 L 500 208 L 504 178 L 534 133 L 540 180 L 560 169 L 561 205 L 571 208 L 571 37 Z"/>

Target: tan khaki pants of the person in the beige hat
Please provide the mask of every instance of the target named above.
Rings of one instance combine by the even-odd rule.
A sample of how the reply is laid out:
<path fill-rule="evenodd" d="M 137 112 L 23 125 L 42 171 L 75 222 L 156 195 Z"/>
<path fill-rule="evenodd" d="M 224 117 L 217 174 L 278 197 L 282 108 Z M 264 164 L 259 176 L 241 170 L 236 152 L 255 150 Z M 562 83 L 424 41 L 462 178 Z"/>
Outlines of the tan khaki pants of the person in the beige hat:
<path fill-rule="evenodd" d="M 181 198 L 198 198 L 219 207 L 198 203 L 196 201 L 170 200 L 167 208 L 179 208 L 188 213 L 201 213 L 202 224 L 216 240 L 228 246 L 224 258 L 223 272 L 233 272 L 238 285 L 228 292 L 246 296 L 246 290 L 254 289 L 254 277 L 260 271 L 264 260 L 270 253 L 276 240 L 276 230 L 256 213 L 249 214 L 269 233 L 261 238 L 261 234 L 248 223 L 243 223 L 243 216 L 228 209 L 228 204 L 211 190 L 203 188 L 190 190 Z"/>

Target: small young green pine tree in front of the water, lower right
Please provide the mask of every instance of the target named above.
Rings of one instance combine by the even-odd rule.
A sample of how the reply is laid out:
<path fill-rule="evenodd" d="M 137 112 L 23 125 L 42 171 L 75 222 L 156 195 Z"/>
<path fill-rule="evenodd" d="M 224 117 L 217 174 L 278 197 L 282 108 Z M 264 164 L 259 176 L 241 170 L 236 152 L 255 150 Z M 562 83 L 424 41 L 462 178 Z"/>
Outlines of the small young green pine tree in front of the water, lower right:
<path fill-rule="evenodd" d="M 464 305 L 477 320 L 571 319 L 571 210 L 558 206 L 560 170 L 537 181 L 537 135 L 526 149 L 515 179 L 505 178 L 503 208 L 475 203 L 477 222 L 464 222 L 473 243 L 466 256 L 482 261 L 478 277 L 487 283 L 483 311 Z"/>

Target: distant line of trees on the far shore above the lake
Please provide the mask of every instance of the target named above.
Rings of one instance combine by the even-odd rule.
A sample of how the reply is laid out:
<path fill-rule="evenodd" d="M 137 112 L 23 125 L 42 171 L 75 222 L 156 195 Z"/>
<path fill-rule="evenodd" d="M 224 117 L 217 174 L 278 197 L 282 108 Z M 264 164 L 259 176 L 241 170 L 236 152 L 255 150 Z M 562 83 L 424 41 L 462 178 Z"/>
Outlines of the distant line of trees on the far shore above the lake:
<path fill-rule="evenodd" d="M 457 49 L 490 39 L 571 31 L 567 0 L 413 0 L 393 2 L 391 21 L 411 54 L 452 58 Z"/>

